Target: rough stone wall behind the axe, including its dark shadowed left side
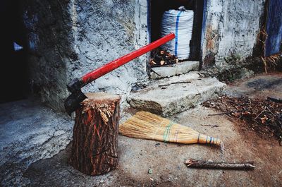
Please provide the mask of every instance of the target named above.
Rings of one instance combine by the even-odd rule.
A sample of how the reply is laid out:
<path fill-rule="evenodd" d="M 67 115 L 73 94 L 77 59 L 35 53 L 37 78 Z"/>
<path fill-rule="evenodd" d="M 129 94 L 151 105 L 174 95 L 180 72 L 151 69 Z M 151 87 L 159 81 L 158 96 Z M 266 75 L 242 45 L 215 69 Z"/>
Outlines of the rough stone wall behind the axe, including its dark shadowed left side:
<path fill-rule="evenodd" d="M 23 1 L 30 85 L 43 102 L 63 110 L 66 84 L 147 44 L 146 0 Z M 147 56 L 98 78 L 83 91 L 127 94 L 147 79 Z"/>

